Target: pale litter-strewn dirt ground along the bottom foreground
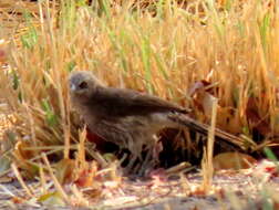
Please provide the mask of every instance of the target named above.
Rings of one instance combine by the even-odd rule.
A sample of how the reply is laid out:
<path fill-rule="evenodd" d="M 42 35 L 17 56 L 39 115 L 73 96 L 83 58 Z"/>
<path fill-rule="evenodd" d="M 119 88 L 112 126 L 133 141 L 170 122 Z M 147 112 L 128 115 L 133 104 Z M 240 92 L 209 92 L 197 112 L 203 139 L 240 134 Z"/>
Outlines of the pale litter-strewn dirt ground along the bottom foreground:
<path fill-rule="evenodd" d="M 185 180 L 184 180 L 185 181 Z M 96 201 L 90 202 L 87 207 L 48 207 L 29 199 L 17 203 L 17 197 L 22 197 L 24 191 L 17 181 L 0 185 L 0 209 L 107 209 L 107 210 L 223 210 L 223 209 L 265 209 L 268 204 L 265 196 L 268 195 L 268 186 L 279 189 L 279 180 L 272 179 L 259 182 L 258 178 L 245 174 L 229 175 L 225 172 L 214 178 L 211 193 L 205 195 L 199 189 L 202 177 L 190 175 L 187 185 L 180 180 L 162 181 L 124 181 L 120 186 L 122 193 L 103 196 Z M 8 193 L 12 192 L 12 195 Z M 105 190 L 104 190 L 105 192 Z M 118 192 L 118 191 L 117 191 Z M 110 195 L 110 192 L 107 192 Z M 264 195 L 264 196 L 262 196 Z"/>

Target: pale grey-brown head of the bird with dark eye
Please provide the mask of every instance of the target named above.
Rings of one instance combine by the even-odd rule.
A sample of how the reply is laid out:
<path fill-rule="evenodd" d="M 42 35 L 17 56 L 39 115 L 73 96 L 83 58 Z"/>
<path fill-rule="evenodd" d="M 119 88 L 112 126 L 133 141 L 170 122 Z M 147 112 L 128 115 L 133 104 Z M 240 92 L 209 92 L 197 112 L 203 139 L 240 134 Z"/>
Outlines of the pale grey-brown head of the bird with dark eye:
<path fill-rule="evenodd" d="M 102 83 L 89 71 L 78 71 L 70 74 L 70 93 L 75 96 L 90 96 L 102 86 Z"/>

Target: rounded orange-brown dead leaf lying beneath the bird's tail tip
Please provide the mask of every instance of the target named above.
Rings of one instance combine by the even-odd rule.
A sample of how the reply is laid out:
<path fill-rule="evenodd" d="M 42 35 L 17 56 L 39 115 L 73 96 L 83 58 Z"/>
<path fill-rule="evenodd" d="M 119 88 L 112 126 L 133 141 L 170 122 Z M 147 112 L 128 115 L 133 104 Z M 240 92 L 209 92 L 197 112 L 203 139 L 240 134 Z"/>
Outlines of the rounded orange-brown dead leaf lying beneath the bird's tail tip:
<path fill-rule="evenodd" d="M 240 153 L 223 153 L 214 157 L 215 170 L 247 169 L 257 162 L 251 156 Z"/>

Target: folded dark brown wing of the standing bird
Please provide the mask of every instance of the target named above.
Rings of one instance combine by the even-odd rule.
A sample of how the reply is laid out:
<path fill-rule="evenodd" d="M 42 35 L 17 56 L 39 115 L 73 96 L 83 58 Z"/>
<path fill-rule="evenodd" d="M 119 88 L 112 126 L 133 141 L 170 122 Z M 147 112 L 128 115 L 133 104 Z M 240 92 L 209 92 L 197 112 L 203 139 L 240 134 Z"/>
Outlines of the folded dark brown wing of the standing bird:
<path fill-rule="evenodd" d="M 155 112 L 189 111 L 159 97 L 132 90 L 102 87 L 91 98 L 91 103 L 111 115 L 143 115 Z"/>

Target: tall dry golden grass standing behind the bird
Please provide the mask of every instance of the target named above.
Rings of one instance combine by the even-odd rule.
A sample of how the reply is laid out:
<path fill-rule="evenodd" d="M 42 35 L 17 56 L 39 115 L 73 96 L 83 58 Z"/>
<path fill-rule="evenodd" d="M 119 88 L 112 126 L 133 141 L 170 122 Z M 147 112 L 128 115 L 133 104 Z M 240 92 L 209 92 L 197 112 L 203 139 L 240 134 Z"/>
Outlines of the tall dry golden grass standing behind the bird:
<path fill-rule="evenodd" d="M 254 139 L 256 129 L 264 137 L 249 143 L 251 150 L 277 144 L 279 15 L 275 3 L 227 0 L 219 8 L 197 0 L 180 8 L 158 1 L 151 14 L 131 11 L 131 2 L 95 8 L 70 0 L 61 1 L 60 8 L 43 1 L 35 12 L 21 11 L 25 31 L 11 34 L 6 46 L 9 67 L 0 72 L 0 98 L 8 105 L 3 112 L 16 119 L 6 135 L 18 140 L 12 153 L 16 162 L 38 175 L 50 170 L 39 164 L 42 151 L 54 154 L 54 161 L 68 159 L 70 149 L 76 148 L 80 122 L 71 109 L 66 84 L 74 69 L 93 71 L 111 86 L 190 107 L 205 123 L 210 122 L 211 108 L 205 108 L 211 105 L 208 95 L 217 97 L 217 127 Z M 14 13 L 1 12 L 17 31 Z M 214 87 L 210 94 L 193 97 L 189 90 L 200 81 Z M 194 140 L 185 135 L 184 147 L 189 141 Z M 200 151 L 190 145 L 192 153 Z M 110 161 L 92 145 L 86 153 L 107 167 Z"/>

